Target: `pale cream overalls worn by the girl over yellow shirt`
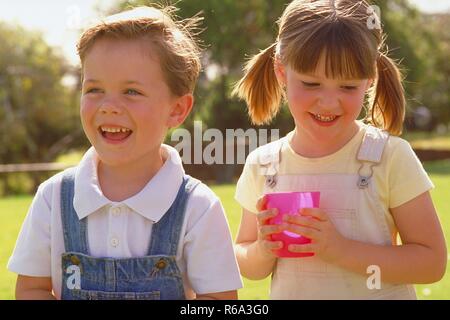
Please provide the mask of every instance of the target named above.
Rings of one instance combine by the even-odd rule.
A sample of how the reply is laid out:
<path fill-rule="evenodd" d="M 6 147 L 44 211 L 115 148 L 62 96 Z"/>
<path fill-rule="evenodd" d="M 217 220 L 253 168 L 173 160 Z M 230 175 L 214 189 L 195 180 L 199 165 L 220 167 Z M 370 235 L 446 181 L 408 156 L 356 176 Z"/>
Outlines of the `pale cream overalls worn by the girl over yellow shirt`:
<path fill-rule="evenodd" d="M 264 193 L 320 191 L 320 208 L 345 237 L 365 243 L 393 245 L 388 208 L 382 204 L 372 181 L 374 167 L 382 160 L 389 134 L 367 126 L 356 160 L 360 167 L 352 174 L 278 174 L 282 138 L 263 146 L 259 163 L 266 177 Z M 368 266 L 369 267 L 369 266 Z M 327 263 L 320 258 L 278 258 L 272 274 L 272 299 L 416 299 L 414 287 L 381 282 L 368 285 L 370 274 L 362 276 Z M 383 270 L 381 270 L 381 279 Z"/>

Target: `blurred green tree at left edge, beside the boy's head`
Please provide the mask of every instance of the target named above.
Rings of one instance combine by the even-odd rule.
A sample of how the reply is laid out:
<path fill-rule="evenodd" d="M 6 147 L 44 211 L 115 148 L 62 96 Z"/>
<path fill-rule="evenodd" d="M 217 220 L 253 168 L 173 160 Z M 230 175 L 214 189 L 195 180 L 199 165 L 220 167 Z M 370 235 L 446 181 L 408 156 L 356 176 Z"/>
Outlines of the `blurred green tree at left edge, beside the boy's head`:
<path fill-rule="evenodd" d="M 81 127 L 62 84 L 68 65 L 39 33 L 0 23 L 0 43 L 0 163 L 52 161 L 58 142 Z"/>

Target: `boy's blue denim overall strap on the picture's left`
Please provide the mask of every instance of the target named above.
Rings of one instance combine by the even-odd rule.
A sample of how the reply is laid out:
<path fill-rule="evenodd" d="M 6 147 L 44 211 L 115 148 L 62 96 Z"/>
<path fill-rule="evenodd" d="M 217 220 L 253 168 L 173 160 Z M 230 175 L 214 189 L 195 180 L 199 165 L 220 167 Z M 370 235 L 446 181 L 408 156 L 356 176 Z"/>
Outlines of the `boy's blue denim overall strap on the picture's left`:
<path fill-rule="evenodd" d="M 61 182 L 61 223 L 66 252 L 88 254 L 87 218 L 79 220 L 73 207 L 76 168 L 64 172 Z"/>

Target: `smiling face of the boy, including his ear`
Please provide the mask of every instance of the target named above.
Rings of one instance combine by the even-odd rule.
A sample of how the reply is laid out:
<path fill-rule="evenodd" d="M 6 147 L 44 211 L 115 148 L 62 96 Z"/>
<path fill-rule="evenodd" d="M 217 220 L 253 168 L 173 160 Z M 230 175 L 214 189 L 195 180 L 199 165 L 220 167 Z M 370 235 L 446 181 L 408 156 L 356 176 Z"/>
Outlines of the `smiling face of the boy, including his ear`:
<path fill-rule="evenodd" d="M 100 39 L 85 57 L 81 121 L 105 164 L 154 161 L 167 129 L 191 107 L 192 95 L 171 94 L 155 51 L 142 40 Z"/>

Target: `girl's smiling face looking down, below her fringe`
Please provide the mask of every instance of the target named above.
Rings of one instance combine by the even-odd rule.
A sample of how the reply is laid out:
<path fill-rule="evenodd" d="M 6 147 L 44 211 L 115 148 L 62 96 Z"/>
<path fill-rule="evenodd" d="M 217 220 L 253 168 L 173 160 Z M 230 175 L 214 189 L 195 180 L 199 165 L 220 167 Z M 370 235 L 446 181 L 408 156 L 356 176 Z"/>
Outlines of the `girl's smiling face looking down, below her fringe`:
<path fill-rule="evenodd" d="M 357 128 L 369 79 L 333 79 L 325 75 L 324 59 L 314 74 L 303 74 L 276 64 L 280 82 L 286 86 L 289 109 L 297 131 L 315 144 L 348 140 Z"/>

